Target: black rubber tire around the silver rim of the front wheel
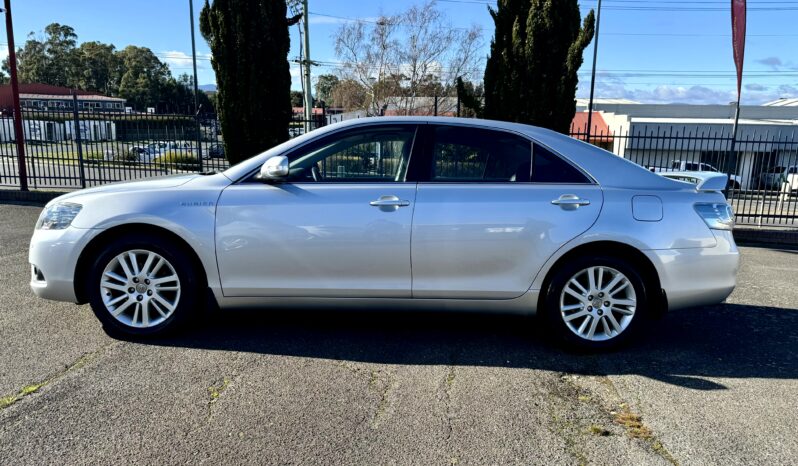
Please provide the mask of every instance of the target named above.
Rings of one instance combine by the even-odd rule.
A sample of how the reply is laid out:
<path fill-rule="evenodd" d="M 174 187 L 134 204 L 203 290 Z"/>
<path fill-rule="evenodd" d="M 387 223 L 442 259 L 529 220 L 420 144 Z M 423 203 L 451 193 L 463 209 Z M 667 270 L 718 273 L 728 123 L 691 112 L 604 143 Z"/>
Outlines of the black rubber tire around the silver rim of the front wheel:
<path fill-rule="evenodd" d="M 149 327 L 126 325 L 111 315 L 111 311 L 106 307 L 103 300 L 101 283 L 106 267 L 117 256 L 131 250 L 149 251 L 161 256 L 171 266 L 179 279 L 179 295 L 172 295 L 177 297 L 176 305 L 173 306 L 174 310 L 166 318 L 159 317 L 154 311 L 151 311 L 148 315 L 154 315 L 157 319 L 163 318 L 163 321 Z M 205 289 L 204 279 L 201 275 L 198 275 L 196 266 L 192 263 L 189 254 L 190 252 L 186 251 L 181 245 L 174 244 L 172 241 L 151 233 L 124 235 L 105 245 L 97 254 L 96 260 L 90 265 L 88 279 L 86 280 L 86 295 L 89 297 L 89 303 L 94 314 L 102 322 L 105 331 L 114 337 L 149 337 L 166 335 L 183 328 L 191 320 L 192 315 L 198 314 L 197 311 L 200 310 L 199 306 L 203 303 L 202 297 L 204 296 L 204 293 L 199 292 L 199 290 Z M 153 285 L 153 287 L 155 286 Z M 106 290 L 106 292 L 124 294 L 124 292 L 116 290 Z M 128 299 L 132 300 L 133 298 Z M 126 302 L 127 300 L 122 301 L 122 303 Z M 136 303 L 133 303 L 133 305 L 135 306 Z M 162 305 L 158 307 L 166 310 Z M 135 323 L 135 318 L 133 318 L 133 322 Z"/>

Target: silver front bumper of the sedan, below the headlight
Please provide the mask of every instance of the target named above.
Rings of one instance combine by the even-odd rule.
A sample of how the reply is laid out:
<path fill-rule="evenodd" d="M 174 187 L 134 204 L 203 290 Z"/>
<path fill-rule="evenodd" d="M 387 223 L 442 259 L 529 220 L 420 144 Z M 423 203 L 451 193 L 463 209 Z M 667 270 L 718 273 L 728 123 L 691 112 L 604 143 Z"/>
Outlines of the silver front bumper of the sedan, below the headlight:
<path fill-rule="evenodd" d="M 77 302 L 75 268 L 84 247 L 102 230 L 68 227 L 35 230 L 30 240 L 30 287 L 36 296 L 55 301 Z"/>

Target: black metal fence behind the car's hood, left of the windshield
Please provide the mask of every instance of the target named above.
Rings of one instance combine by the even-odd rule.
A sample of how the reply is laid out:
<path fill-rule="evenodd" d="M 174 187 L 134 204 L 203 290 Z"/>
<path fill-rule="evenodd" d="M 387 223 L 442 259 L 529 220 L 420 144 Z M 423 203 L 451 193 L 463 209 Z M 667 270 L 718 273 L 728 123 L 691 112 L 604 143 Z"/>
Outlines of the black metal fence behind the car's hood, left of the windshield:
<path fill-rule="evenodd" d="M 311 128 L 324 125 L 314 118 Z M 30 189 L 79 189 L 115 181 L 228 168 L 215 115 L 24 111 Z M 305 121 L 291 122 L 291 137 Z M 14 121 L 0 116 L 0 187 L 19 187 Z"/>

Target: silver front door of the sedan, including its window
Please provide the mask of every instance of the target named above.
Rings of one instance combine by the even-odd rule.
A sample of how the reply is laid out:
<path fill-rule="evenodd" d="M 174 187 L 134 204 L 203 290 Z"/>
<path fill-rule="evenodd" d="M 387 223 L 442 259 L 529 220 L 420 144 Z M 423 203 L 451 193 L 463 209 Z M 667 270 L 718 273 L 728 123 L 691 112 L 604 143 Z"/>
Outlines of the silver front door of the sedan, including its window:
<path fill-rule="evenodd" d="M 288 154 L 284 182 L 226 188 L 216 214 L 225 296 L 410 297 L 416 125 L 327 135 Z"/>

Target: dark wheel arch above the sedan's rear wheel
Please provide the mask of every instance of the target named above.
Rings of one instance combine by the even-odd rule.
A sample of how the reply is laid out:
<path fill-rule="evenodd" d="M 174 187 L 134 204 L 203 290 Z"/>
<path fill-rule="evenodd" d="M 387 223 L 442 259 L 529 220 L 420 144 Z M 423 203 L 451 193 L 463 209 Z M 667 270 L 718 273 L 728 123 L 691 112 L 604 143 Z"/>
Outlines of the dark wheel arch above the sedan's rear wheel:
<path fill-rule="evenodd" d="M 546 294 L 554 274 L 559 270 L 563 264 L 568 263 L 579 256 L 585 255 L 609 255 L 618 259 L 629 261 L 640 272 L 641 277 L 645 280 L 646 285 L 652 290 L 648 293 L 648 301 L 654 315 L 662 315 L 668 308 L 667 297 L 662 289 L 662 284 L 659 279 L 659 273 L 651 260 L 646 257 L 639 249 L 625 243 L 617 241 L 594 241 L 590 243 L 580 244 L 560 256 L 549 270 L 543 279 L 543 284 L 540 288 L 538 296 L 538 308 L 542 309 L 545 305 Z"/>

